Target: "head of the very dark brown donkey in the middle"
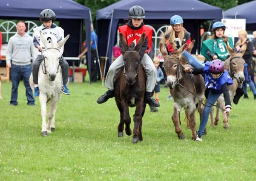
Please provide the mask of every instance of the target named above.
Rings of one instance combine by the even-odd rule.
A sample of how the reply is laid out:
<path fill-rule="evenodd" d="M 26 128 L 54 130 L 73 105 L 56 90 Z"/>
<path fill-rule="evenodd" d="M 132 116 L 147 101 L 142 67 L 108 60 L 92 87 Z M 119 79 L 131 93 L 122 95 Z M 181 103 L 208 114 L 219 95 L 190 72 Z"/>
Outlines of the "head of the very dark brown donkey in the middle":
<path fill-rule="evenodd" d="M 124 76 L 126 77 L 128 85 L 133 85 L 135 83 L 135 78 L 138 75 L 138 67 L 141 61 L 139 52 L 145 40 L 145 36 L 145 33 L 141 35 L 137 45 L 131 43 L 131 45 L 128 46 L 124 35 L 119 33 L 120 42 L 125 50 L 125 53 L 123 54 Z"/>

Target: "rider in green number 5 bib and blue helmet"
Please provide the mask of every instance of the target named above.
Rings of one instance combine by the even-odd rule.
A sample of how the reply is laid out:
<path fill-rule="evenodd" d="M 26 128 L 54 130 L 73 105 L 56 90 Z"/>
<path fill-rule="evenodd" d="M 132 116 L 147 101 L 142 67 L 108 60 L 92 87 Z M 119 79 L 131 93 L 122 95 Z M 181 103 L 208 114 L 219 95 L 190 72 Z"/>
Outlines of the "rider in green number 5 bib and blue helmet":
<path fill-rule="evenodd" d="M 231 37 L 224 36 L 226 26 L 223 22 L 217 21 L 212 26 L 212 36 L 202 43 L 201 55 L 207 60 L 221 59 L 225 61 L 230 54 L 227 45 L 233 48 Z"/>

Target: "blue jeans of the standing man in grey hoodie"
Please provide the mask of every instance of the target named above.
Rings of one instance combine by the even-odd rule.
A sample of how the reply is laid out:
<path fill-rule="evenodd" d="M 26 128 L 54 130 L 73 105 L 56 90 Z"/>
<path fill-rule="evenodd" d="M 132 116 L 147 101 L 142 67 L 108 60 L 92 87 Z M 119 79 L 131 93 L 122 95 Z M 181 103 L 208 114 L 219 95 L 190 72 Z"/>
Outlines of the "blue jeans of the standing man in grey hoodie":
<path fill-rule="evenodd" d="M 12 80 L 12 96 L 11 96 L 11 105 L 17 105 L 17 97 L 18 97 L 18 86 L 20 80 L 23 79 L 24 86 L 26 88 L 26 97 L 28 100 L 28 105 L 35 105 L 35 99 L 32 93 L 32 89 L 29 85 L 29 76 L 31 74 L 31 65 L 15 65 L 12 64 L 11 67 L 11 80 Z"/>

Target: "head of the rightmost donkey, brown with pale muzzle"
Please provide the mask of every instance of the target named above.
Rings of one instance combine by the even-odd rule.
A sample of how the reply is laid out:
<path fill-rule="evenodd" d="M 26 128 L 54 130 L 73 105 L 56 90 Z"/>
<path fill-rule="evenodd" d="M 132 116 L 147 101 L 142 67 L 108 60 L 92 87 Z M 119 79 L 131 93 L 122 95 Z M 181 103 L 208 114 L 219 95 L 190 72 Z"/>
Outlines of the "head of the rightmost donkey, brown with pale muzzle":
<path fill-rule="evenodd" d="M 242 58 L 244 52 L 247 48 L 247 43 L 245 43 L 239 53 L 233 50 L 229 45 L 227 50 L 230 53 L 230 57 L 225 61 L 225 69 L 228 70 L 229 74 L 237 80 L 238 83 L 244 81 L 244 59 Z"/>

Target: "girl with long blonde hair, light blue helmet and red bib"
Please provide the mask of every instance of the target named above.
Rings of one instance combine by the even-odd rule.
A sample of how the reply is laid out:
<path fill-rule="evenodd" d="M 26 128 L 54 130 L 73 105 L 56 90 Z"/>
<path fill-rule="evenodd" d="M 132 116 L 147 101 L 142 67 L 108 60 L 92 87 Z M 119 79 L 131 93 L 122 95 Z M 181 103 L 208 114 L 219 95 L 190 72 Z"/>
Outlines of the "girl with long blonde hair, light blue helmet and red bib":
<path fill-rule="evenodd" d="M 191 43 L 190 32 L 183 28 L 183 22 L 182 17 L 179 15 L 174 15 L 170 19 L 170 30 L 168 30 L 164 35 L 168 53 L 175 51 L 170 42 L 177 44 L 177 48 L 181 47 L 184 43 L 187 43 L 187 45 Z"/>

